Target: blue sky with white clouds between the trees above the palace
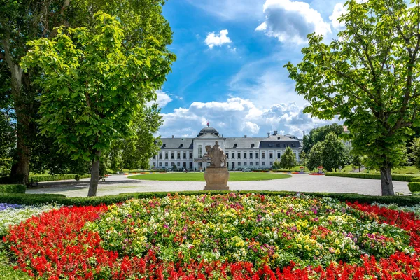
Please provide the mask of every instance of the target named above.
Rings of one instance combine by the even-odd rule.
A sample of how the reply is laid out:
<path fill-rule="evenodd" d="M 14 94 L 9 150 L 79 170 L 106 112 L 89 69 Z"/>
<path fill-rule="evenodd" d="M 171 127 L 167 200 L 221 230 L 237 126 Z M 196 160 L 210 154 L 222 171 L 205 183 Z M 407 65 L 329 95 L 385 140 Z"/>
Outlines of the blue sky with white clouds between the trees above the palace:
<path fill-rule="evenodd" d="M 209 121 L 225 137 L 263 137 L 333 123 L 304 113 L 283 65 L 302 59 L 311 32 L 335 38 L 344 1 L 169 0 L 177 56 L 158 92 L 162 137 L 195 137 Z"/>

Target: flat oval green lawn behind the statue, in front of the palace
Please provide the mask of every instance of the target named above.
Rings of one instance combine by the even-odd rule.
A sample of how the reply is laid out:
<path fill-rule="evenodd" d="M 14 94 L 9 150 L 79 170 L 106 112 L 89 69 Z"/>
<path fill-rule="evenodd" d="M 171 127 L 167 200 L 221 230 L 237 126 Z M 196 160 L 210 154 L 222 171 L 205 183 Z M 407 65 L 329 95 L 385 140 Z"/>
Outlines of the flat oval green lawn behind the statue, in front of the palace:
<path fill-rule="evenodd" d="M 287 174 L 259 173 L 259 172 L 231 172 L 229 181 L 261 181 L 289 178 Z M 129 176 L 130 179 L 154 181 L 205 181 L 204 173 L 160 173 Z"/>

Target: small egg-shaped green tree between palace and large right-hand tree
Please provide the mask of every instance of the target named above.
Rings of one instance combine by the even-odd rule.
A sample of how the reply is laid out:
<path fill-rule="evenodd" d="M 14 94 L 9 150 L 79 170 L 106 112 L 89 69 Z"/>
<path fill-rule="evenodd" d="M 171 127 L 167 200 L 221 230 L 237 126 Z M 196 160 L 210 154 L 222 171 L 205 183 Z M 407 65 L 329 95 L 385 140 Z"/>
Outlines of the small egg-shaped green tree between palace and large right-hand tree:
<path fill-rule="evenodd" d="M 321 142 L 321 159 L 325 171 L 331 172 L 332 169 L 337 171 L 337 168 L 344 167 L 346 160 L 346 153 L 344 151 L 344 144 L 339 141 L 334 132 L 329 132 L 325 141 Z"/>

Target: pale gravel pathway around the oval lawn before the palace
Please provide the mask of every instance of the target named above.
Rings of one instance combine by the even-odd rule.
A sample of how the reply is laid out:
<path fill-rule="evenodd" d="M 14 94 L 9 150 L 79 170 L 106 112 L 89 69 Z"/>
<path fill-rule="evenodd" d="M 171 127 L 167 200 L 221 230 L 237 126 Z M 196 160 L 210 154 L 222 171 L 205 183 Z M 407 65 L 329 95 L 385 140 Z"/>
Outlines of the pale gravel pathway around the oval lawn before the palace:
<path fill-rule="evenodd" d="M 147 174 L 144 175 L 147 178 Z M 40 183 L 43 188 L 29 189 L 27 193 L 59 193 L 69 197 L 87 196 L 90 179 L 52 181 Z M 134 192 L 169 192 L 182 190 L 203 190 L 205 182 L 191 181 L 147 181 L 128 179 L 127 175 L 113 175 L 101 181 L 97 195 L 116 195 Z M 319 193 L 360 193 L 381 195 L 379 180 L 354 179 L 332 176 L 310 176 L 292 174 L 288 179 L 268 181 L 228 182 L 231 190 L 293 190 Z M 409 194 L 407 182 L 393 182 L 395 192 Z"/>

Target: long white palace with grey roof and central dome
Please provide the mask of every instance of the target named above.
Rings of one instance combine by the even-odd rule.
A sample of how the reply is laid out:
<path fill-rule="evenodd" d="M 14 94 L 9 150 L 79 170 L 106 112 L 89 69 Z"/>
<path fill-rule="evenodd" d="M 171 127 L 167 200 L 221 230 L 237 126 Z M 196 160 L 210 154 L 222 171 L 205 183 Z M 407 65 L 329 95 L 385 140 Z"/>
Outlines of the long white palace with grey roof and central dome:
<path fill-rule="evenodd" d="M 162 138 L 158 155 L 151 158 L 149 165 L 156 169 L 204 169 L 206 162 L 202 155 L 207 145 L 214 146 L 216 141 L 228 157 L 228 169 L 269 169 L 278 161 L 287 147 L 292 148 L 297 160 L 302 150 L 300 140 L 293 135 L 280 135 L 274 131 L 267 137 L 223 137 L 216 129 L 204 127 L 195 138 Z"/>

